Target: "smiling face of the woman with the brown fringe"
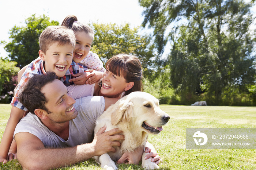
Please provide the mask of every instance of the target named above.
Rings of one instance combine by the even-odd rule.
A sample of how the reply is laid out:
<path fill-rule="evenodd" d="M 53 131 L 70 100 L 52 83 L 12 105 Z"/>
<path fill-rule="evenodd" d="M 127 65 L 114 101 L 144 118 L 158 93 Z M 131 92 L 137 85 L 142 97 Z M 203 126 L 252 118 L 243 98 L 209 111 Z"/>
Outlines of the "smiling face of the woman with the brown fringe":
<path fill-rule="evenodd" d="M 103 73 L 101 93 L 105 97 L 119 98 L 121 94 L 132 88 L 133 82 L 126 82 L 125 78 L 117 76 L 108 70 Z"/>

